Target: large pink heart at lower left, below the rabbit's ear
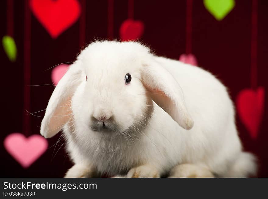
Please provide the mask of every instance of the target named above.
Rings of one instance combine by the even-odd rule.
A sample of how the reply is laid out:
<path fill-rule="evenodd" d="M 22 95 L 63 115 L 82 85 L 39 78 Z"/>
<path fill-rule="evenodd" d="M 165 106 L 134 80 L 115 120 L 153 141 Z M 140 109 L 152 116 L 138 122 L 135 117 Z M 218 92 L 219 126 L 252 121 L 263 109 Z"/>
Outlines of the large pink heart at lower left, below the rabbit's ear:
<path fill-rule="evenodd" d="M 5 149 L 23 168 L 28 168 L 48 148 L 48 141 L 40 135 L 26 138 L 21 133 L 12 133 L 4 140 Z"/>

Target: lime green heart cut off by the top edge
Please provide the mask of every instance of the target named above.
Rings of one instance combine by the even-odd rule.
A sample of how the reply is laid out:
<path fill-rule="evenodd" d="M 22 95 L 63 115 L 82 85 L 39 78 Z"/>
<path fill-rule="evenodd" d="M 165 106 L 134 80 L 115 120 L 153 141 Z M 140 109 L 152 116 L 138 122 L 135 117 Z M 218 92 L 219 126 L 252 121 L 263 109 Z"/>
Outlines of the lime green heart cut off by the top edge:
<path fill-rule="evenodd" d="M 206 9 L 218 20 L 222 20 L 235 5 L 234 0 L 204 0 Z"/>

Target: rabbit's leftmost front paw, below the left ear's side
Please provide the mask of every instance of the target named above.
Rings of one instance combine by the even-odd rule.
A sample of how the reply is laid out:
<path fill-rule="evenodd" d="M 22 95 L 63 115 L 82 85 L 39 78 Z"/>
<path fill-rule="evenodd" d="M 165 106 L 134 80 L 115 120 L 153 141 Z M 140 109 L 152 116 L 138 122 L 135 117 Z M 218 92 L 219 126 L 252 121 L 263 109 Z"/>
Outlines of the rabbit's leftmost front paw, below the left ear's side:
<path fill-rule="evenodd" d="M 64 177 L 92 177 L 93 172 L 92 166 L 75 164 L 67 171 Z"/>

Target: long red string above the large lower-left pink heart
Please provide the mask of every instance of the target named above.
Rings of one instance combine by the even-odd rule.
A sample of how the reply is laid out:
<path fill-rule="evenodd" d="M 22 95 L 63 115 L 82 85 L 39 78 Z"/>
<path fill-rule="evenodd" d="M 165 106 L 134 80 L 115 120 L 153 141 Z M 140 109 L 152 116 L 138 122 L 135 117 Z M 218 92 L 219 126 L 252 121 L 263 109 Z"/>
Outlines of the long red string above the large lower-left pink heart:
<path fill-rule="evenodd" d="M 24 99 L 23 108 L 30 112 L 30 47 L 31 47 L 31 13 L 29 8 L 29 0 L 25 1 L 24 5 Z M 30 135 L 30 115 L 23 111 L 23 132 L 25 135 Z"/>

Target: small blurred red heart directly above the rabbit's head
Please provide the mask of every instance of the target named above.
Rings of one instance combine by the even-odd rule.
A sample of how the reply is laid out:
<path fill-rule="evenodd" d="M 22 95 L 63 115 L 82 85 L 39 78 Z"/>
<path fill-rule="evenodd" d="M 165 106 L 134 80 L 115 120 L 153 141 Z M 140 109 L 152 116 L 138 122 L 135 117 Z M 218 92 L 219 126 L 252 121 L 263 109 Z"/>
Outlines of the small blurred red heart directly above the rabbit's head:
<path fill-rule="evenodd" d="M 120 37 L 122 41 L 136 40 L 143 35 L 143 31 L 142 21 L 127 19 L 120 26 Z"/>

